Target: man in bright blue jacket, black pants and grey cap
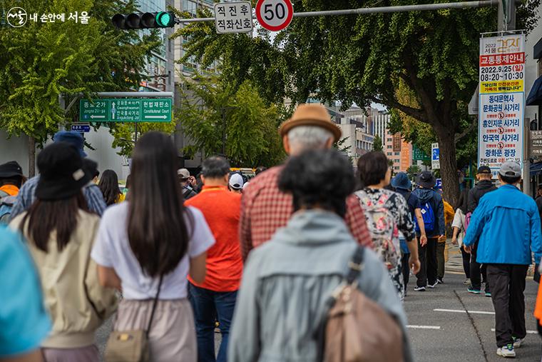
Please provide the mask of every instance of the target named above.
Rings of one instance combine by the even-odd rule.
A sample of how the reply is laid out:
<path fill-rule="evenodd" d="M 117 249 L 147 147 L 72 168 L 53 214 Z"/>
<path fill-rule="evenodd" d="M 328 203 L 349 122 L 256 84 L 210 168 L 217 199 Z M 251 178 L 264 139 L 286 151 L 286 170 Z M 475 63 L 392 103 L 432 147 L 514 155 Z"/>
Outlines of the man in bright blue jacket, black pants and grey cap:
<path fill-rule="evenodd" d="M 497 354 L 513 358 L 526 336 L 523 291 L 531 249 L 540 260 L 542 236 L 536 203 L 516 187 L 521 166 L 506 161 L 498 179 L 502 186 L 480 199 L 464 243 L 469 248 L 478 240 L 476 261 L 487 265 L 495 308 Z"/>

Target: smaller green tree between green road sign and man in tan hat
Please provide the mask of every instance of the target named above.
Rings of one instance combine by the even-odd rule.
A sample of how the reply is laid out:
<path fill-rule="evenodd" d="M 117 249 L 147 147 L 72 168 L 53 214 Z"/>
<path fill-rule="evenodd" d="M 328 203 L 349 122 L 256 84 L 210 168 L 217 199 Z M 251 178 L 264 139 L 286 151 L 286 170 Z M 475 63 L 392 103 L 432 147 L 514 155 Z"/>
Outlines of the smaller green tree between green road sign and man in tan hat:
<path fill-rule="evenodd" d="M 218 77 L 196 76 L 185 85 L 176 114 L 193 143 L 186 156 L 224 154 L 236 167 L 275 166 L 285 158 L 280 110 L 266 105 L 250 81 L 235 89 Z"/>

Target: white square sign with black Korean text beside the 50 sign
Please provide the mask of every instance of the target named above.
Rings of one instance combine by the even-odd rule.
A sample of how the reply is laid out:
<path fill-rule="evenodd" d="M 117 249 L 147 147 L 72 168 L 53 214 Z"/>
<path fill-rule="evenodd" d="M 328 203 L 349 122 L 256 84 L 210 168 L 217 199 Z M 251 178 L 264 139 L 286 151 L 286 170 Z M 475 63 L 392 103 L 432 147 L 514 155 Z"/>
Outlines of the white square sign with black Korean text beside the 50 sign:
<path fill-rule="evenodd" d="M 215 26 L 218 34 L 252 31 L 250 1 L 215 4 Z"/>

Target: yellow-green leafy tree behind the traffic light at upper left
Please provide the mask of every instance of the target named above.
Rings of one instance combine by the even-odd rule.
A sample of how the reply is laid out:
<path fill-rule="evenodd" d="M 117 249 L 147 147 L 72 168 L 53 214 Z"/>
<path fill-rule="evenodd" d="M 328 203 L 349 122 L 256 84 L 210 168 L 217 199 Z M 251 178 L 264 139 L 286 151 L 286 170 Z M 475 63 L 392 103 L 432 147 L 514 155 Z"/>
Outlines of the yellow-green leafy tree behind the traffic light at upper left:
<path fill-rule="evenodd" d="M 128 91 L 143 78 L 145 57 L 160 44 L 155 33 L 113 29 L 111 16 L 136 10 L 135 1 L 28 0 L 29 14 L 88 11 L 88 24 L 73 20 L 31 21 L 20 28 L 0 26 L 0 128 L 26 134 L 38 143 L 75 119 L 64 114 L 63 95 L 87 98 L 97 91 Z M 33 165 L 31 165 L 33 169 Z"/>

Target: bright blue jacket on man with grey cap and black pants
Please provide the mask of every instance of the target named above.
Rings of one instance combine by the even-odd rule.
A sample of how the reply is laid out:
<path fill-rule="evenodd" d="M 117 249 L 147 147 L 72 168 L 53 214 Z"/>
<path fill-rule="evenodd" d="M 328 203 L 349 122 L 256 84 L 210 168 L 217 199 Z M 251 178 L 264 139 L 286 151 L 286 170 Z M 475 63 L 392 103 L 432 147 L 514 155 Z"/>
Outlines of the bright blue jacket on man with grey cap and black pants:
<path fill-rule="evenodd" d="M 536 203 L 512 185 L 486 193 L 471 217 L 464 243 L 479 239 L 476 261 L 528 265 L 542 257 L 540 216 Z"/>

